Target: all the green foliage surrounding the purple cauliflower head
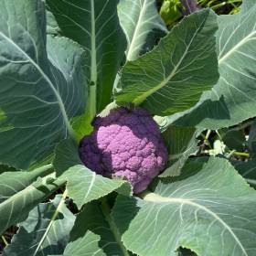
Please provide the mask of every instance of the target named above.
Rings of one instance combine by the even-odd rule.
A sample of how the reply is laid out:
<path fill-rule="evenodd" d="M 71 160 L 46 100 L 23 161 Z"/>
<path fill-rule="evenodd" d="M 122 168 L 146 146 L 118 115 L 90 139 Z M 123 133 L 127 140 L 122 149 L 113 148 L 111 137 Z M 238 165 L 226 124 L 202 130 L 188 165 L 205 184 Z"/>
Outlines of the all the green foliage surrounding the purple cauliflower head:
<path fill-rule="evenodd" d="M 254 2 L 44 2 L 0 0 L 3 255 L 255 255 Z M 113 99 L 155 114 L 170 153 L 139 196 L 77 152 Z"/>

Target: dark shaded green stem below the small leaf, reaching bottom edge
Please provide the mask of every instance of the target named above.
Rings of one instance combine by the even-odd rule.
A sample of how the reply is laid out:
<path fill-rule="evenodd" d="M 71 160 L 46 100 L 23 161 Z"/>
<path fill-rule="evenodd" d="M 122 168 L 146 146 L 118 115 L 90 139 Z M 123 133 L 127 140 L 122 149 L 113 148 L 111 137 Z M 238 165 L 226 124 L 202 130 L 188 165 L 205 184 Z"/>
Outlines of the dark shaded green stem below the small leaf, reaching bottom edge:
<path fill-rule="evenodd" d="M 110 228 L 112 229 L 114 239 L 117 241 L 118 245 L 123 251 L 123 256 L 129 256 L 129 252 L 126 250 L 126 248 L 123 245 L 123 241 L 121 240 L 121 234 L 117 229 L 114 220 L 112 219 L 111 208 L 109 207 L 106 197 L 101 198 L 101 208 L 105 219 L 107 220 L 108 224 L 110 225 Z"/>

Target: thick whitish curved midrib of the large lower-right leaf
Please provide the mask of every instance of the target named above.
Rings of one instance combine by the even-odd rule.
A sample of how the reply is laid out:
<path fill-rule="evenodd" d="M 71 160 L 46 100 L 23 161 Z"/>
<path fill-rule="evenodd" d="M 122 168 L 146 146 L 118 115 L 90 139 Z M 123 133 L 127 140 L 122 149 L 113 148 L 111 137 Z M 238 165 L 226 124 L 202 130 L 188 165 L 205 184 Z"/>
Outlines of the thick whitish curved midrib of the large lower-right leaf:
<path fill-rule="evenodd" d="M 211 211 L 209 208 L 207 208 L 205 206 L 202 206 L 200 204 L 197 204 L 192 199 L 181 198 L 181 197 L 180 198 L 179 197 L 162 197 L 162 196 L 159 196 L 155 193 L 148 193 L 143 197 L 143 199 L 145 201 L 151 201 L 151 202 L 155 202 L 155 203 L 178 203 L 178 204 L 181 204 L 181 205 L 188 205 L 188 206 L 198 208 L 198 209 L 201 209 L 201 210 L 205 211 L 211 217 L 213 217 L 214 219 L 217 219 L 217 221 L 219 221 L 219 223 L 224 227 L 224 229 L 227 229 L 229 231 L 229 234 L 238 243 L 238 245 L 240 247 L 240 250 L 243 252 L 243 255 L 244 256 L 249 256 L 247 254 L 247 252 L 245 251 L 245 248 L 241 244 L 239 238 L 233 232 L 233 230 L 229 227 L 229 225 L 223 219 L 219 218 L 219 216 L 215 212 Z"/>

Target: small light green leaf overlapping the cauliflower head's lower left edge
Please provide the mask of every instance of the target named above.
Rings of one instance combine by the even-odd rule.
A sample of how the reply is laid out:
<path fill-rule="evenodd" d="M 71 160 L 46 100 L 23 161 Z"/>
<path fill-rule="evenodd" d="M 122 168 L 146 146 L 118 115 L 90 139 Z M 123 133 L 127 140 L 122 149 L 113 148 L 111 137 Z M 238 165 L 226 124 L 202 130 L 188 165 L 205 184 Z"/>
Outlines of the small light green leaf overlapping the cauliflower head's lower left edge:
<path fill-rule="evenodd" d="M 131 186 L 125 180 L 97 175 L 84 165 L 70 167 L 61 177 L 67 179 L 68 196 L 78 208 L 114 190 L 127 196 L 131 194 Z"/>

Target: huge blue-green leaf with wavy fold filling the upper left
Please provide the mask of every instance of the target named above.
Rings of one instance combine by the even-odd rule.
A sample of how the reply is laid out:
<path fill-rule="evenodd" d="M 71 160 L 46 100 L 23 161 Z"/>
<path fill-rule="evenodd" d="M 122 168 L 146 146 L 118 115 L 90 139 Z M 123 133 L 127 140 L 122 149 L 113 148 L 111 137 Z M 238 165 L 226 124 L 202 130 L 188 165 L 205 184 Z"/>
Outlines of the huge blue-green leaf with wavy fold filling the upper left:
<path fill-rule="evenodd" d="M 73 133 L 69 119 L 85 106 L 84 51 L 48 37 L 47 54 L 41 0 L 0 0 L 0 9 L 0 162 L 26 169 Z"/>

